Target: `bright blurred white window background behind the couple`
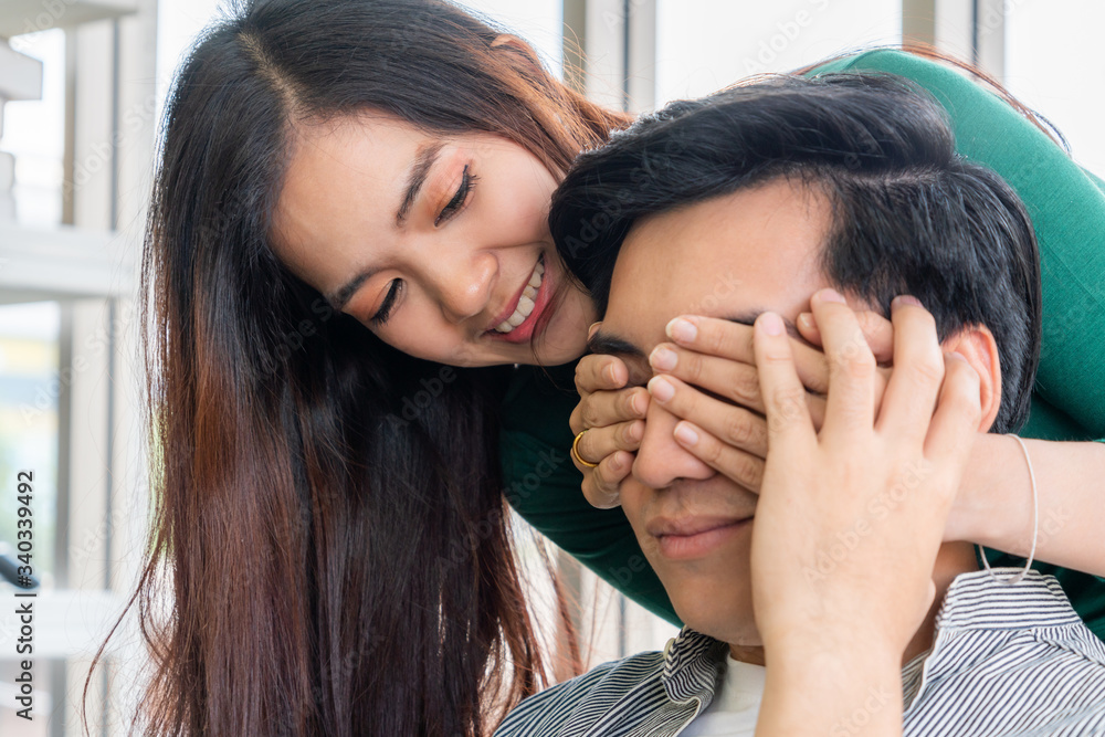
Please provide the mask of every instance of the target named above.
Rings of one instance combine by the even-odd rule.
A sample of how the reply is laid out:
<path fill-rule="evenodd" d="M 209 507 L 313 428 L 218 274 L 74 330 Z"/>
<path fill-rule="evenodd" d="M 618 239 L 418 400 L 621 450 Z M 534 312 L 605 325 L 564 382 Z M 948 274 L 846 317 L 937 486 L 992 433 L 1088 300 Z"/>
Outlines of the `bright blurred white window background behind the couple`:
<path fill-rule="evenodd" d="M 997 77 L 1105 173 L 1101 0 L 463 4 L 530 41 L 597 101 L 633 112 L 925 41 Z M 0 552 L 17 540 L 17 473 L 32 471 L 41 581 L 32 722 L 15 717 L 15 588 L 0 582 L 0 735 L 81 734 L 91 657 L 133 591 L 148 515 L 134 317 L 145 199 L 173 70 L 219 13 L 212 0 L 0 0 Z M 533 556 L 540 543 L 523 537 Z M 590 664 L 675 633 L 552 554 Z M 126 730 L 141 659 L 125 624 L 90 684 L 94 735 Z"/>

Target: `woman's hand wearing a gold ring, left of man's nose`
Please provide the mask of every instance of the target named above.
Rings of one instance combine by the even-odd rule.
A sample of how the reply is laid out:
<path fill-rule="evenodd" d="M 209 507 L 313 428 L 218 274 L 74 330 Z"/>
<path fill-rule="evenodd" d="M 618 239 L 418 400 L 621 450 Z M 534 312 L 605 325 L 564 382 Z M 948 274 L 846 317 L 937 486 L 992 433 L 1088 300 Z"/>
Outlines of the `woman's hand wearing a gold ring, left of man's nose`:
<path fill-rule="evenodd" d="M 593 333 L 594 326 L 591 327 Z M 579 455 L 598 463 L 593 468 L 571 462 L 583 474 L 583 496 L 592 506 L 608 509 L 620 504 L 618 487 L 633 466 L 633 453 L 644 436 L 649 392 L 643 387 L 622 389 L 629 369 L 617 356 L 583 356 L 576 366 L 579 404 L 568 420 L 579 439 Z"/>

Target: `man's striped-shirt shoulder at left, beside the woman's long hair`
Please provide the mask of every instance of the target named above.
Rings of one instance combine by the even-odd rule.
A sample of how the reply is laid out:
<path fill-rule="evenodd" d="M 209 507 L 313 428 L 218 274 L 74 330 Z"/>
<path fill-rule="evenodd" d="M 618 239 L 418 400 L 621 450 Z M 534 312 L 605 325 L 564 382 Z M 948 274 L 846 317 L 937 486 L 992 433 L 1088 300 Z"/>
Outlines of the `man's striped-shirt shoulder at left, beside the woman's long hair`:
<path fill-rule="evenodd" d="M 640 697 L 643 706 L 663 693 L 663 672 L 664 653 L 659 651 L 602 663 L 522 702 L 495 737 L 545 737 L 569 725 L 578 729 L 631 696 Z"/>

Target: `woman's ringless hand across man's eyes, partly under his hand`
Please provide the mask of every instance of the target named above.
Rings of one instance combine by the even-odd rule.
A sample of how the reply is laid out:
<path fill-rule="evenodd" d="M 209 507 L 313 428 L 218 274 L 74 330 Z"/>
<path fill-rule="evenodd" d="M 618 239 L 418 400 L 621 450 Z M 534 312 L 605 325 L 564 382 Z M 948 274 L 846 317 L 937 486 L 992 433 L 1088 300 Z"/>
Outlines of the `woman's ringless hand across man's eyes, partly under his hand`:
<path fill-rule="evenodd" d="M 799 331 L 814 348 L 791 338 L 791 355 L 814 428 L 824 417 L 829 362 L 819 349 L 821 336 L 811 313 Z M 873 355 L 890 360 L 893 328 L 877 313 L 856 313 L 856 323 Z M 803 329 L 803 324 L 806 325 Z M 672 343 L 660 344 L 649 360 L 656 375 L 649 382 L 653 400 L 684 419 L 675 440 L 704 463 L 741 486 L 758 492 L 767 456 L 767 423 L 753 349 L 753 328 L 732 320 L 682 316 L 667 326 Z M 882 399 L 890 370 L 875 377 L 875 401 Z M 719 398 L 719 399 L 718 399 Z"/>

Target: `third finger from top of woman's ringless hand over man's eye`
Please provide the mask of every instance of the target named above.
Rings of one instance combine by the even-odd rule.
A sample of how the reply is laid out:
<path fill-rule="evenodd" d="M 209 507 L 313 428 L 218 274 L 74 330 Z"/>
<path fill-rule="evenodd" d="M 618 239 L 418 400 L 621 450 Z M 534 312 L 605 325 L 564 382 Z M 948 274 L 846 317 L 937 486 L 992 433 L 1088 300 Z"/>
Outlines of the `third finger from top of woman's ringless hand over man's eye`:
<path fill-rule="evenodd" d="M 759 457 L 767 455 L 767 421 L 762 415 L 708 397 L 672 376 L 653 377 L 649 392 L 665 410 L 694 420 L 722 442 Z"/>

